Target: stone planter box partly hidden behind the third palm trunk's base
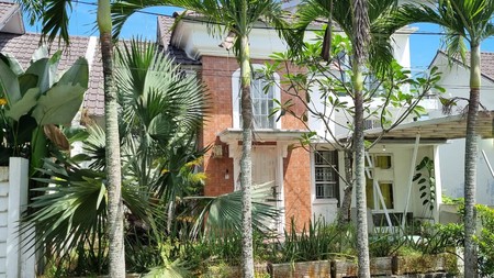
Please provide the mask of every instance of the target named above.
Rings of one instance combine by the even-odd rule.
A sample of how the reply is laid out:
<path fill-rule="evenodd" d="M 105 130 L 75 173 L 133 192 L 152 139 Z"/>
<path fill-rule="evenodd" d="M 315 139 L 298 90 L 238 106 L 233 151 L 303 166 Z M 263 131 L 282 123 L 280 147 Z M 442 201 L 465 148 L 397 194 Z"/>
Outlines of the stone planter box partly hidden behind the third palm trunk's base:
<path fill-rule="evenodd" d="M 392 275 L 393 266 L 392 257 L 379 257 L 370 259 L 370 271 L 373 276 L 390 276 Z M 334 259 L 332 260 L 332 277 L 357 277 L 358 266 L 357 260 L 349 259 Z"/>

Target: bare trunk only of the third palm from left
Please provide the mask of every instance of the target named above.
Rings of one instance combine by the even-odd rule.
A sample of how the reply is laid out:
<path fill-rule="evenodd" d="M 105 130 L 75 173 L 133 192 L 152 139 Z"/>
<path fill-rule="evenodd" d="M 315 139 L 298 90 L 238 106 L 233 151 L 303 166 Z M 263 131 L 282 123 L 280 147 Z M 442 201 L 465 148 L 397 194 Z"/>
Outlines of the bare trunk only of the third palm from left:
<path fill-rule="evenodd" d="M 358 248 L 358 274 L 360 278 L 370 278 L 369 264 L 369 238 L 367 229 L 367 198 L 364 176 L 364 142 L 363 142 L 363 70 L 367 60 L 367 46 L 369 40 L 369 16 L 366 0 L 353 0 L 352 2 L 352 27 L 353 27 L 353 58 L 352 58 L 352 84 L 353 84 L 353 148 L 355 148 L 355 187 L 357 207 L 357 248 Z"/>

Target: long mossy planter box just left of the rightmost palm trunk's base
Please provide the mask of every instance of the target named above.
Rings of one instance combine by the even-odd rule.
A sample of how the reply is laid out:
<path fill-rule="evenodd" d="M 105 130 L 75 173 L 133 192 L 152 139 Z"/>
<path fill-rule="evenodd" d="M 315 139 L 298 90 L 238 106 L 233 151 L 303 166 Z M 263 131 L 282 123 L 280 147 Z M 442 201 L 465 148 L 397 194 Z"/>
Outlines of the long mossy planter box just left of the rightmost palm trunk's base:
<path fill-rule="evenodd" d="M 393 274 L 427 274 L 456 273 L 457 257 L 454 254 L 442 253 L 423 256 L 393 257 Z"/>

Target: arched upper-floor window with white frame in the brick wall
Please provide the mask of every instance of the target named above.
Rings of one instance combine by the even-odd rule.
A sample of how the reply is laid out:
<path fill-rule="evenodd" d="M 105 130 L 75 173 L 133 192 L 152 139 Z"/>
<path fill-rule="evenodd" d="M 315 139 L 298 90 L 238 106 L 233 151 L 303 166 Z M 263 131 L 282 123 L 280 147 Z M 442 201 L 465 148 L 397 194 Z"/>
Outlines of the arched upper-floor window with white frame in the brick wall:
<path fill-rule="evenodd" d="M 280 88 L 276 85 L 269 85 L 269 81 L 261 74 L 256 73 L 261 65 L 252 65 L 255 71 L 250 82 L 250 97 L 252 100 L 252 121 L 254 129 L 281 129 L 281 121 L 277 121 L 278 113 L 271 115 L 274 109 L 273 99 L 280 99 Z M 277 74 L 273 76 L 274 82 L 279 84 L 280 78 Z M 233 91 L 233 127 L 242 127 L 240 118 L 240 69 L 237 69 L 232 76 Z"/>

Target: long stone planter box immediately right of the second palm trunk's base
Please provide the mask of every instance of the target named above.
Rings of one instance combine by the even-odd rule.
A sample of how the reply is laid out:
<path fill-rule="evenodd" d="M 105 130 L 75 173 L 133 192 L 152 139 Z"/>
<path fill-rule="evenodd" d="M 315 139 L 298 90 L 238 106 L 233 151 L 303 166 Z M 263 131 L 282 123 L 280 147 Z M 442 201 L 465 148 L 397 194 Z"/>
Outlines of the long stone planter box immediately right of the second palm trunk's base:
<path fill-rule="evenodd" d="M 330 278 L 330 262 L 314 260 L 268 265 L 271 278 Z"/>

